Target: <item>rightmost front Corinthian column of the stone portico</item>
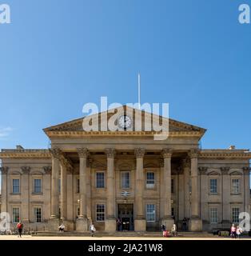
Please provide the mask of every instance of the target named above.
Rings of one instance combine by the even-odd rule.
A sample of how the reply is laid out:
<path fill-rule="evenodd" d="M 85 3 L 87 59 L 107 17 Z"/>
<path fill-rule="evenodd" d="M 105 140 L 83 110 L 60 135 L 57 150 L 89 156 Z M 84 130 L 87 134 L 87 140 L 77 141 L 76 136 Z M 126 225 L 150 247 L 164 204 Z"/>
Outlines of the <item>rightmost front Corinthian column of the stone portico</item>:
<path fill-rule="evenodd" d="M 191 150 L 189 153 L 191 158 L 191 220 L 189 222 L 190 231 L 201 231 L 202 222 L 199 217 L 199 190 L 198 190 L 198 166 L 197 166 L 197 150 Z"/>

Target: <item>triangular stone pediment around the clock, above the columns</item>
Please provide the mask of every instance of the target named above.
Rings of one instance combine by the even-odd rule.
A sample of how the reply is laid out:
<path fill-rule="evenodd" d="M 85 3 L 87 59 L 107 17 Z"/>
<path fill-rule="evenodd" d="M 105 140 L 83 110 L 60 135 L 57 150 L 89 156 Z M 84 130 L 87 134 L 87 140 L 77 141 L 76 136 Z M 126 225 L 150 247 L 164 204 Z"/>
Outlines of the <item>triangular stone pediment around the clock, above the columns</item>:
<path fill-rule="evenodd" d="M 125 110 L 126 107 L 126 110 Z M 104 121 L 104 115 L 102 116 L 102 114 L 104 114 L 105 112 L 101 112 L 98 114 L 93 114 L 88 116 L 87 118 L 89 118 L 91 121 L 90 122 L 94 122 L 94 120 L 97 121 L 98 123 L 98 131 L 100 131 L 101 128 L 101 124 Z M 129 129 L 130 131 L 138 131 L 135 126 L 136 126 L 136 122 L 135 120 L 138 120 L 139 118 L 139 113 L 141 115 L 141 131 L 146 131 L 145 127 L 150 127 L 150 130 L 148 131 L 154 131 L 153 129 L 153 122 L 157 123 L 157 124 L 162 124 L 164 122 L 166 122 L 166 120 L 168 120 L 169 122 L 169 132 L 174 132 L 174 133 L 179 133 L 179 132 L 185 132 L 187 134 L 189 133 L 197 133 L 200 134 L 201 136 L 203 136 L 203 134 L 205 134 L 205 129 L 198 127 L 198 126 L 193 126 L 190 125 L 188 123 L 185 122 L 179 122 L 176 120 L 173 120 L 171 118 L 167 119 L 167 118 L 163 118 L 161 117 L 161 115 L 156 115 L 156 114 L 151 114 L 149 112 L 146 112 L 144 110 L 137 110 L 128 106 L 122 106 L 118 109 L 113 109 L 113 110 L 108 110 L 107 113 L 107 122 L 109 122 L 110 118 L 114 118 L 114 117 L 121 117 L 122 115 L 127 115 L 129 116 L 129 118 L 131 118 L 132 120 L 132 125 Z M 81 131 L 85 131 L 83 129 L 83 120 L 86 117 L 83 118 L 78 118 L 78 119 L 74 119 L 71 120 L 69 122 L 63 122 L 61 124 L 58 124 L 56 126 L 50 126 L 46 129 L 44 129 L 44 131 L 46 132 L 47 135 L 51 134 L 51 132 L 60 132 L 60 131 L 65 131 L 65 132 L 81 132 Z M 114 118 L 114 120 L 118 119 L 118 118 Z M 103 121 L 102 121 L 103 120 Z M 116 124 L 117 121 L 115 121 Z M 102 131 L 102 130 L 101 130 Z M 110 131 L 109 129 L 107 131 Z"/>

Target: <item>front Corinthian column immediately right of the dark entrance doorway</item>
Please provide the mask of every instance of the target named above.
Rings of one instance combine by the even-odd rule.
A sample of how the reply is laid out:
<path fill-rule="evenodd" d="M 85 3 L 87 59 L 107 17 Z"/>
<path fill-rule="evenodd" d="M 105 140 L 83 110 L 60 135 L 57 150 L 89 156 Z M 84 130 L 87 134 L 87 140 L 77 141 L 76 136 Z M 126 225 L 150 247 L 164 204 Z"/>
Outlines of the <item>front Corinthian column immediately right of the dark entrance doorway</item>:
<path fill-rule="evenodd" d="M 145 150 L 142 148 L 135 149 L 136 154 L 136 177 L 135 177 L 135 215 L 134 230 L 145 231 L 145 211 L 144 211 L 144 170 L 143 170 L 143 158 Z"/>

